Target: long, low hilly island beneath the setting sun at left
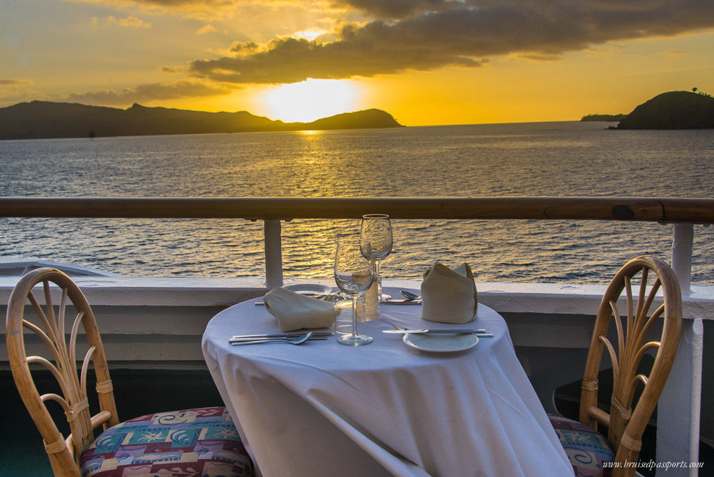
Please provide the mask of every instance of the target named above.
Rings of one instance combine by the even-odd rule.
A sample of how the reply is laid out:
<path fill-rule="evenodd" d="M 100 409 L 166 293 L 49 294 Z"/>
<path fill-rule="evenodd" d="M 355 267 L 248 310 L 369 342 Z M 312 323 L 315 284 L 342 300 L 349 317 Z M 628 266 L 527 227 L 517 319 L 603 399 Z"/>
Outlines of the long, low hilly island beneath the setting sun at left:
<path fill-rule="evenodd" d="M 140 104 L 117 109 L 31 101 L 0 108 L 0 140 L 394 127 L 403 126 L 380 109 L 337 114 L 310 123 L 284 123 L 247 111 L 208 113 Z"/>

